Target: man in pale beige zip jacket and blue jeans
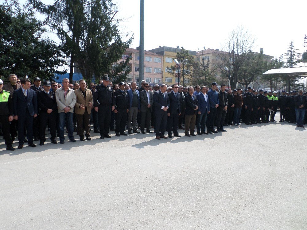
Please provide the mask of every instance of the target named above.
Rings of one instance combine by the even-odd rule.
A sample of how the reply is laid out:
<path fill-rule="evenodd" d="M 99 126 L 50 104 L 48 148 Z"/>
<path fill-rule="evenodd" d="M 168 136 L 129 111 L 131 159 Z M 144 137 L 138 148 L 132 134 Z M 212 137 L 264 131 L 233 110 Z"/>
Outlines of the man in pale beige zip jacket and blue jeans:
<path fill-rule="evenodd" d="M 69 79 L 64 78 L 62 81 L 63 87 L 56 90 L 56 104 L 59 112 L 59 130 L 60 144 L 64 144 L 64 127 L 65 120 L 68 128 L 68 138 L 71 142 L 76 142 L 74 139 L 74 128 L 72 125 L 72 117 L 74 114 L 74 106 L 76 104 L 76 94 L 74 90 L 69 88 Z"/>

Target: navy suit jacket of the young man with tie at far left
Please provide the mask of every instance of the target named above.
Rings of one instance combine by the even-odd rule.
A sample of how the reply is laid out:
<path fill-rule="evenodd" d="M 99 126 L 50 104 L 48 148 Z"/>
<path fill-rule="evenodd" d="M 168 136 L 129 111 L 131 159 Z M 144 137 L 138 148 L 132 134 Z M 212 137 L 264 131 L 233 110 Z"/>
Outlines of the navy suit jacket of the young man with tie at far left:
<path fill-rule="evenodd" d="M 34 90 L 28 89 L 27 98 L 22 92 L 22 88 L 14 90 L 14 115 L 25 116 L 27 109 L 31 116 L 37 114 L 37 98 Z"/>

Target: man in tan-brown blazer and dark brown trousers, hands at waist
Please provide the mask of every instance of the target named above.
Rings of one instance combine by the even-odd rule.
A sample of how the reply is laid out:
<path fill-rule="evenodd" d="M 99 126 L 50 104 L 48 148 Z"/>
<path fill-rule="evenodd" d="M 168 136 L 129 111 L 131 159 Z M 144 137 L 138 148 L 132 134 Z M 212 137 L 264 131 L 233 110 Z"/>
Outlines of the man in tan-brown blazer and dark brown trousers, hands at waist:
<path fill-rule="evenodd" d="M 86 140 L 90 138 L 90 117 L 91 117 L 91 106 L 93 105 L 93 94 L 92 91 L 86 88 L 86 82 L 81 79 L 79 81 L 80 89 L 75 90 L 76 94 L 76 105 L 75 115 L 77 120 L 77 134 L 80 136 L 80 140 L 84 141 L 84 132 Z"/>

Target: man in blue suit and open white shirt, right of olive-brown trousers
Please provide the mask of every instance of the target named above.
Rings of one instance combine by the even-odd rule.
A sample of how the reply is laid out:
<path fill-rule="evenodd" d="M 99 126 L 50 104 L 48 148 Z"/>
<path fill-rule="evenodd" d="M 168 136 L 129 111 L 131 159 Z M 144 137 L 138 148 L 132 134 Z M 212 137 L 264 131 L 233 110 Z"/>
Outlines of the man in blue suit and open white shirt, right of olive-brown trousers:
<path fill-rule="evenodd" d="M 207 114 L 210 113 L 210 102 L 206 92 L 207 92 L 207 87 L 201 86 L 200 93 L 196 95 L 197 106 L 198 106 L 196 128 L 198 135 L 208 134 L 205 132 L 205 130 L 206 130 Z"/>

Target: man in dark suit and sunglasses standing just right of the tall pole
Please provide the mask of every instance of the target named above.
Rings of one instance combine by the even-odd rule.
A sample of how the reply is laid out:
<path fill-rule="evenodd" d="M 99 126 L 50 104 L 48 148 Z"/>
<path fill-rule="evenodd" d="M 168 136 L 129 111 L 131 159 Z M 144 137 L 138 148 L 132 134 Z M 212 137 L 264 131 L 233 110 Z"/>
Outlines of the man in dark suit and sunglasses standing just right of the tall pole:
<path fill-rule="evenodd" d="M 144 90 L 140 92 L 140 101 L 141 101 L 141 132 L 152 133 L 150 131 L 150 121 L 151 121 L 151 111 L 153 106 L 153 92 L 149 90 L 149 84 L 144 84 Z"/>

